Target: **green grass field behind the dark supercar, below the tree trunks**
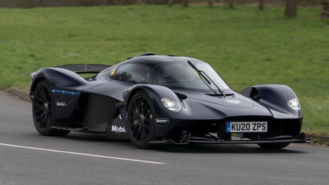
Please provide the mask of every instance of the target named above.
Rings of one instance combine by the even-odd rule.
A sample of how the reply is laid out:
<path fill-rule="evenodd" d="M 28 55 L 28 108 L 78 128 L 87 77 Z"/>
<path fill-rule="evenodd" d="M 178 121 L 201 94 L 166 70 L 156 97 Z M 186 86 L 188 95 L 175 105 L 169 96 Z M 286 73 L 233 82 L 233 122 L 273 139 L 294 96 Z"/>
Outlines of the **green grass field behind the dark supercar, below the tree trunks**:
<path fill-rule="evenodd" d="M 0 88 L 29 88 L 42 67 L 113 65 L 153 52 L 200 58 L 237 91 L 286 84 L 303 107 L 303 129 L 329 133 L 329 22 L 319 8 L 109 6 L 0 9 Z"/>

